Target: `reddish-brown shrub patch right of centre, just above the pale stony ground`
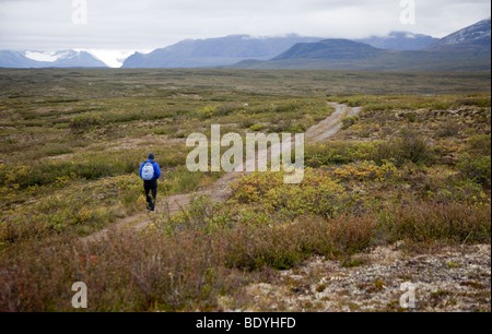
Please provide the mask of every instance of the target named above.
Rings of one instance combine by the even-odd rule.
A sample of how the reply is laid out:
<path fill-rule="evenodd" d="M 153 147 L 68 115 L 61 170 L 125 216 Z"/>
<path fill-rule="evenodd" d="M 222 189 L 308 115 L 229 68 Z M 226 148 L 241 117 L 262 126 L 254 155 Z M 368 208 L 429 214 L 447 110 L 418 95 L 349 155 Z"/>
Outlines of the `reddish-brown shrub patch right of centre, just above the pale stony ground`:
<path fill-rule="evenodd" d="M 300 218 L 286 225 L 238 227 L 225 236 L 230 267 L 291 269 L 307 257 L 350 255 L 368 247 L 377 223 L 370 217 Z"/>

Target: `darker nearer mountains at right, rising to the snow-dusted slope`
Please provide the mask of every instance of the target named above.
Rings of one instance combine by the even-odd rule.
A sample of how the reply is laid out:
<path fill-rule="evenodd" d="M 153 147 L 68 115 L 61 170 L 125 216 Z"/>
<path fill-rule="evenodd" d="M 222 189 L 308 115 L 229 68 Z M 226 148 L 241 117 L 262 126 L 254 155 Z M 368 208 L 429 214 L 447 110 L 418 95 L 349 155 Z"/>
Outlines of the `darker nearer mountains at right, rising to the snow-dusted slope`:
<path fill-rule="evenodd" d="M 269 61 L 245 60 L 237 69 L 487 71 L 491 20 L 435 40 L 421 50 L 385 50 L 348 39 L 296 44 Z"/>

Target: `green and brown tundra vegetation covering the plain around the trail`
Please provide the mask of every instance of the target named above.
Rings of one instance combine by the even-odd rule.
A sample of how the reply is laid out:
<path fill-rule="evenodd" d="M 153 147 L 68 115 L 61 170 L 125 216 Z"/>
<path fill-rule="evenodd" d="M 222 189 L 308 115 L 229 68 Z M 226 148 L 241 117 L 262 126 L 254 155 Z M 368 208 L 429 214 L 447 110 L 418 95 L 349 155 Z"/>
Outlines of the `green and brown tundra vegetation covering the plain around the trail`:
<path fill-rule="evenodd" d="M 90 311 L 249 310 L 248 286 L 316 255 L 352 267 L 374 247 L 490 244 L 490 73 L 0 70 L 0 86 L 1 311 L 74 311 L 75 282 Z M 363 111 L 306 146 L 301 184 L 250 174 L 226 202 L 82 241 L 144 211 L 150 151 L 161 200 L 191 193 L 222 174 L 186 169 L 188 134 L 304 132 L 328 102 Z"/>

